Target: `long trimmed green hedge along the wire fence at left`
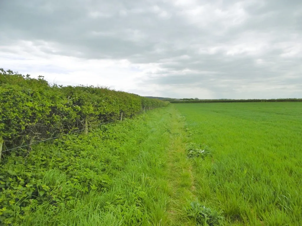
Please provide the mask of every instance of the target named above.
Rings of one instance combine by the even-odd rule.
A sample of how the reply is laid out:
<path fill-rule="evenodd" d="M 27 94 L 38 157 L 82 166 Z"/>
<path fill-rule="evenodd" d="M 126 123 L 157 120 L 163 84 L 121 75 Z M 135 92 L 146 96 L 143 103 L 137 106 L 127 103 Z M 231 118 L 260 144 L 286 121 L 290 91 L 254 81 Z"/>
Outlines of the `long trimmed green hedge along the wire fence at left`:
<path fill-rule="evenodd" d="M 136 94 L 94 86 L 50 86 L 0 68 L 0 140 L 5 149 L 124 117 L 166 103 Z M 2 154 L 8 154 L 7 152 Z"/>

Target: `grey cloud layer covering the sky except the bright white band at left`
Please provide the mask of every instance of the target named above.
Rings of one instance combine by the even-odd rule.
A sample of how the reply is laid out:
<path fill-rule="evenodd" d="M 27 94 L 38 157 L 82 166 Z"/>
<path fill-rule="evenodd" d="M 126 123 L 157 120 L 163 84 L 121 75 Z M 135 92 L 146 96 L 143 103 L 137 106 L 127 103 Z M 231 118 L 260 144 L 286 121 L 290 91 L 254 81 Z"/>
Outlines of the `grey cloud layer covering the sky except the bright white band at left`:
<path fill-rule="evenodd" d="M 213 11 L 190 16 L 189 10 L 203 4 Z M 172 0 L 1 1 L 0 42 L 31 41 L 47 54 L 155 63 L 161 70 L 147 74 L 142 86 L 202 84 L 221 98 L 240 98 L 233 90 L 244 84 L 300 88 L 300 0 L 195 5 L 177 6 Z M 288 79 L 289 74 L 294 78 Z"/>

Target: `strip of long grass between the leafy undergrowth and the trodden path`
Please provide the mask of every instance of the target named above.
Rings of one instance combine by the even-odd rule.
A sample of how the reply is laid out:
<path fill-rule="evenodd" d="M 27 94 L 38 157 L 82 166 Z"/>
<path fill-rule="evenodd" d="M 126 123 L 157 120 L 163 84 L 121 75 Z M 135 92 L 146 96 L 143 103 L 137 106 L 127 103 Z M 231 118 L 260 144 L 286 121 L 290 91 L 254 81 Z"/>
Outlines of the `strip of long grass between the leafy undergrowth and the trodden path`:
<path fill-rule="evenodd" d="M 162 111 L 154 110 L 109 126 L 106 133 L 111 137 L 94 140 L 98 148 L 81 159 L 79 165 L 84 169 L 100 167 L 98 159 L 112 165 L 103 172 L 111 180 L 103 192 L 90 190 L 77 194 L 66 184 L 64 171 L 57 168 L 46 171 L 43 183 L 61 187 L 66 193 L 64 196 L 72 198 L 53 211 L 51 203 L 38 206 L 36 211 L 25 215 L 23 225 L 157 225 L 165 222 L 170 192 L 164 170 L 169 121 Z M 99 131 L 95 131 L 89 136 L 98 134 Z M 104 151 L 107 160 L 102 157 Z M 94 175 L 91 178 L 97 186 L 99 181 L 94 181 Z"/>

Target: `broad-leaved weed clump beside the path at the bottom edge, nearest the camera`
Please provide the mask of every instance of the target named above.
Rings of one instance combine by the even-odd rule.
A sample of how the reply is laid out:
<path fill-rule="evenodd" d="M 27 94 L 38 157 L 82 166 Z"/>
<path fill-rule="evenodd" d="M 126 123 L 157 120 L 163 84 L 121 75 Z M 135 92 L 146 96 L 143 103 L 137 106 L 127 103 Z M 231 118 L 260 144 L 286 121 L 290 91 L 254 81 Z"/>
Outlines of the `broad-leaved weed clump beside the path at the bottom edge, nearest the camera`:
<path fill-rule="evenodd" d="M 191 202 L 188 216 L 196 220 L 198 226 L 215 226 L 223 219 L 220 213 L 201 205 L 198 201 Z"/>

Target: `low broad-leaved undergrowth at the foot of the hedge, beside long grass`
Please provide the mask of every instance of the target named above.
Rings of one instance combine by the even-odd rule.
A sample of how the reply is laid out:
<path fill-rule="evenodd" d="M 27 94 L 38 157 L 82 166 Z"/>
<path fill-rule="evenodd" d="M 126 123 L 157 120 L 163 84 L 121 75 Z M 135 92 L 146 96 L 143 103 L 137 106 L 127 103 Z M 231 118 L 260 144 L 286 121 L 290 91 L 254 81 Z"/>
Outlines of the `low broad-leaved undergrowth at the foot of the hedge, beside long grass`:
<path fill-rule="evenodd" d="M 87 135 L 74 133 L 39 143 L 26 157 L 21 150 L 5 156 L 0 167 L 0 225 L 34 222 L 36 211 L 46 218 L 62 209 L 72 211 L 92 193 L 101 195 L 110 190 L 114 175 L 119 175 L 127 164 L 121 160 L 124 154 L 121 146 L 131 135 L 131 142 L 137 140 L 132 131 L 137 132 L 136 126 L 144 120 L 145 115 L 140 115 L 122 124 L 103 124 Z M 100 204 L 104 211 L 111 203 Z M 114 204 L 129 206 L 124 197 L 116 198 Z M 58 224 L 52 222 L 52 225 Z"/>

